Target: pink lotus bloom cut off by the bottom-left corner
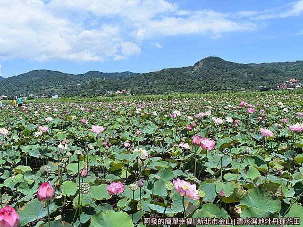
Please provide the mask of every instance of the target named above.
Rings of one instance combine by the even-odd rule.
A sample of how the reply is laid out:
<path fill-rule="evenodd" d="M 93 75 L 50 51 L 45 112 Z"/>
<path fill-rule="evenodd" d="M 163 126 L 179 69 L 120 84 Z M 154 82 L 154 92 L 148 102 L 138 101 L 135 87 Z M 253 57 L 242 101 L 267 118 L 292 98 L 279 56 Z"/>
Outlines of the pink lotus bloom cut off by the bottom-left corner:
<path fill-rule="evenodd" d="M 0 210 L 0 226 L 19 227 L 20 218 L 16 210 L 9 205 Z"/>

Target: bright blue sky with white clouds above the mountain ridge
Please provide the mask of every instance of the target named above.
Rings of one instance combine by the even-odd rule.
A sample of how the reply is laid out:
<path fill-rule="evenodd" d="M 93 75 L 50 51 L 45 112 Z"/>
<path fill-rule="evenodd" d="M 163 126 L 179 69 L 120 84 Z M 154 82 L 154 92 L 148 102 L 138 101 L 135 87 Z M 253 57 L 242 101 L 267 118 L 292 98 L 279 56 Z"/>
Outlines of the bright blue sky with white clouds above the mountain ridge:
<path fill-rule="evenodd" d="M 0 21 L 3 77 L 303 60 L 303 0 L 11 0 Z"/>

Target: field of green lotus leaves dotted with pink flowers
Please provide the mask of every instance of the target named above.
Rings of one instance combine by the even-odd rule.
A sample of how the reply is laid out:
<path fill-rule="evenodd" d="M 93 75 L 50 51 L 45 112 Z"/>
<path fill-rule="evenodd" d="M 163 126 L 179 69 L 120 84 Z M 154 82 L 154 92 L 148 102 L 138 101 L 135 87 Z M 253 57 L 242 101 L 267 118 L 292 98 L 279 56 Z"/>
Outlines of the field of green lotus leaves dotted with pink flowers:
<path fill-rule="evenodd" d="M 302 100 L 4 106 L 0 226 L 299 226 Z"/>

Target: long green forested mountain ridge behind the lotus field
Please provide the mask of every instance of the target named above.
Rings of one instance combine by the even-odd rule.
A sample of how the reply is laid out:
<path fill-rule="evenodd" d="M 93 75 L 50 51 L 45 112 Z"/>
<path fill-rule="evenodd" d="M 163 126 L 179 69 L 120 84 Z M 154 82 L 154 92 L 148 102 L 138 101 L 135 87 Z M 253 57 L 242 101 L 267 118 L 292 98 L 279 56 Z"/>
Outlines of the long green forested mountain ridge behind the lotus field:
<path fill-rule="evenodd" d="M 239 64 L 208 57 L 193 66 L 163 69 L 149 73 L 66 74 L 58 71 L 34 70 L 0 80 L 0 90 L 9 94 L 33 93 L 66 96 L 99 95 L 106 91 L 129 90 L 134 94 L 170 92 L 207 92 L 225 89 L 256 90 L 290 78 L 303 81 L 303 61 L 285 63 Z"/>

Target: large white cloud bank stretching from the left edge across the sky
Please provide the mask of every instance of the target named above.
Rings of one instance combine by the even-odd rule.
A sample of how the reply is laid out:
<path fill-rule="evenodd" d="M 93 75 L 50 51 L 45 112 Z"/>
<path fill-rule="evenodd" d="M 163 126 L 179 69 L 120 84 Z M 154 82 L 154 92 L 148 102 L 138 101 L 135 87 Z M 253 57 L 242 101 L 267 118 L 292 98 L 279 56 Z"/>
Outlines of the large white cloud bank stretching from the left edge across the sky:
<path fill-rule="evenodd" d="M 0 1 L 0 60 L 123 60 L 146 40 L 200 34 L 210 38 L 262 26 L 252 17 L 296 16 L 303 0 L 267 12 L 181 9 L 171 0 Z"/>

